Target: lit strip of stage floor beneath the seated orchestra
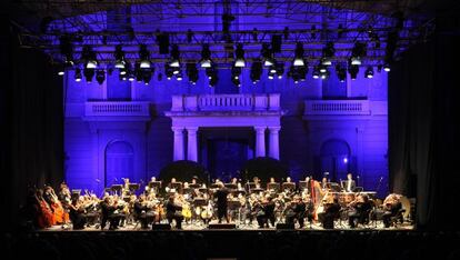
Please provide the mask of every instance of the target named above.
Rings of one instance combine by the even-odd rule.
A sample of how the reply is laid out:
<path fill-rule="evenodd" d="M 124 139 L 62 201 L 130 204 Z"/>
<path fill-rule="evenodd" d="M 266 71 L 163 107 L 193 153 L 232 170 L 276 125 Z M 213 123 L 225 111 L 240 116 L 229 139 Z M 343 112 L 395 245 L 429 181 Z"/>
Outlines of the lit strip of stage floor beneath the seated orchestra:
<path fill-rule="evenodd" d="M 167 224 L 167 222 L 162 222 L 162 224 Z M 252 223 L 238 223 L 238 222 L 230 222 L 230 224 L 234 224 L 234 228 L 226 228 L 226 221 L 222 222 L 221 226 L 218 224 L 217 220 L 213 220 L 209 223 L 210 226 L 217 227 L 217 228 L 209 228 L 208 226 L 206 226 L 202 222 L 183 222 L 182 223 L 182 229 L 177 229 L 174 227 L 174 223 L 172 223 L 172 228 L 171 230 L 180 230 L 180 231 L 206 231 L 206 230 L 241 230 L 241 231 L 269 231 L 269 230 L 278 230 L 277 227 L 269 227 L 269 228 L 259 228 L 257 224 L 257 221 L 253 221 Z M 96 226 L 87 226 L 84 229 L 82 230 L 73 230 L 71 224 L 67 224 L 67 226 L 53 226 L 51 228 L 47 228 L 43 229 L 41 231 L 147 231 L 147 230 L 152 230 L 152 226 L 149 224 L 148 229 L 142 229 L 141 226 L 138 223 L 128 223 L 124 224 L 123 227 L 119 227 L 116 230 L 109 230 L 108 229 L 109 226 L 107 226 L 106 229 L 101 230 L 99 224 Z M 158 230 L 163 230 L 164 229 L 158 229 Z M 306 223 L 306 226 L 303 228 L 300 228 L 298 223 L 296 223 L 296 231 L 329 231 L 331 229 L 323 229 L 321 227 L 321 223 Z M 369 224 L 359 224 L 357 228 L 350 228 L 350 226 L 346 222 L 346 221 L 336 221 L 334 223 L 334 229 L 333 230 L 347 230 L 347 231 L 362 231 L 362 230 L 414 230 L 414 226 L 409 223 L 409 222 L 404 222 L 404 223 L 400 223 L 397 227 L 390 227 L 390 228 L 384 228 L 383 222 L 382 221 L 372 221 Z"/>

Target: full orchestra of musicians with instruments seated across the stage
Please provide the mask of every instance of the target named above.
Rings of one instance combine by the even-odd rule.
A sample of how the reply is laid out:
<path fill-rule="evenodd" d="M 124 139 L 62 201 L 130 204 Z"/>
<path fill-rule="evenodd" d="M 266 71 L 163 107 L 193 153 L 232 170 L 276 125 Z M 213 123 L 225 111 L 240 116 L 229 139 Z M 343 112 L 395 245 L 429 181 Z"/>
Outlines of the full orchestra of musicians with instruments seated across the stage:
<path fill-rule="evenodd" d="M 141 229 L 163 221 L 177 229 L 188 226 L 204 226 L 210 221 L 237 222 L 239 227 L 274 228 L 277 223 L 304 228 L 307 220 L 324 229 L 334 228 L 334 221 L 343 220 L 349 228 L 381 220 L 386 228 L 402 221 L 401 196 L 389 194 L 378 202 L 376 192 L 352 191 L 356 183 L 351 173 L 340 184 L 321 181 L 311 176 L 296 183 L 290 177 L 279 183 L 270 178 L 261 186 L 259 178 L 243 184 L 232 178 L 228 183 L 216 180 L 201 183 L 197 177 L 190 182 L 172 178 L 163 184 L 152 177 L 144 189 L 131 183 L 128 178 L 121 186 L 106 188 L 101 198 L 88 190 L 70 190 L 60 186 L 59 196 L 47 186 L 37 189 L 31 201 L 36 204 L 34 223 L 38 228 L 72 223 L 73 229 L 96 227 L 116 230 L 132 224 Z M 209 186 L 209 188 L 208 188 Z M 343 226 L 342 226 L 343 227 Z"/>

